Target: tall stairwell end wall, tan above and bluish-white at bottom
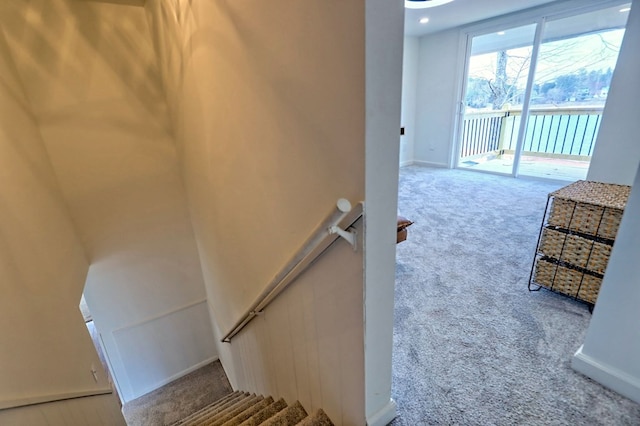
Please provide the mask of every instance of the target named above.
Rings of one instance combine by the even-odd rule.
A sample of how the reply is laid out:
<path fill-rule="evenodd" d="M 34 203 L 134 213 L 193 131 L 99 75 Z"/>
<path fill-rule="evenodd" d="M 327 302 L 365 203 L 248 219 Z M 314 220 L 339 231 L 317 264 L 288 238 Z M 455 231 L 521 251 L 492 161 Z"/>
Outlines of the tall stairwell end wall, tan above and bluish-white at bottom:
<path fill-rule="evenodd" d="M 91 265 L 86 300 L 128 401 L 217 356 L 146 14 L 71 0 L 4 8 L 20 84 Z"/>

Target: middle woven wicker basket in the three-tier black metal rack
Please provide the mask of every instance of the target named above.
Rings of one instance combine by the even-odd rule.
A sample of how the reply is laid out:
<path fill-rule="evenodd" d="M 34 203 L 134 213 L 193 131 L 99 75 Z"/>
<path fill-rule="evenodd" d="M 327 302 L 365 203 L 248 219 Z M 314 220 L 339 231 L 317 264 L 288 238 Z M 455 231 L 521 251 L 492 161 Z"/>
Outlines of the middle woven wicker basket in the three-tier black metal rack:
<path fill-rule="evenodd" d="M 609 262 L 611 246 L 545 228 L 539 251 L 545 256 L 603 274 Z"/>

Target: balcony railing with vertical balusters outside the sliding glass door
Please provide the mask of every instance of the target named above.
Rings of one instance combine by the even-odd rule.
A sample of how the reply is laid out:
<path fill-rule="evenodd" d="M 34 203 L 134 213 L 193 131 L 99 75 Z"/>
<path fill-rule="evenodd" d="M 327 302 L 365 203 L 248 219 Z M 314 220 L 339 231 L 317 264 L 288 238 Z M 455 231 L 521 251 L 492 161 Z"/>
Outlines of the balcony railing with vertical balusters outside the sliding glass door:
<path fill-rule="evenodd" d="M 524 137 L 524 154 L 588 159 L 593 153 L 602 109 L 531 109 Z M 460 158 L 513 153 L 521 120 L 520 110 L 465 114 Z"/>

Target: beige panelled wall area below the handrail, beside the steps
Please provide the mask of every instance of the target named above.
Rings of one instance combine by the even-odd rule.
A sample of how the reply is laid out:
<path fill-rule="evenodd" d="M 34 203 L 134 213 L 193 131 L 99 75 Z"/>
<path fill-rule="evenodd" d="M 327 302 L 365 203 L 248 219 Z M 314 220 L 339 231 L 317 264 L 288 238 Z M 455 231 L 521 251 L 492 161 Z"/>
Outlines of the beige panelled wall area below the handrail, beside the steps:
<path fill-rule="evenodd" d="M 362 221 L 356 228 L 361 236 Z M 362 249 L 336 241 L 223 344 L 234 389 L 299 400 L 310 413 L 322 408 L 337 425 L 364 424 L 362 263 Z"/>

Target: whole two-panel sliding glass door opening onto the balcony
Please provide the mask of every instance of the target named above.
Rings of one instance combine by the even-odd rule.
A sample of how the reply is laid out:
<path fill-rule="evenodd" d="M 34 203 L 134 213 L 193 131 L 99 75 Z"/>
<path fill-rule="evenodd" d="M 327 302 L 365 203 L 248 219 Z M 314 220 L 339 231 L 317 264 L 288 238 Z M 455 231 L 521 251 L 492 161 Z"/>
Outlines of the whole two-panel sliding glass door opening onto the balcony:
<path fill-rule="evenodd" d="M 627 11 L 617 5 L 472 37 L 458 167 L 585 179 Z"/>

